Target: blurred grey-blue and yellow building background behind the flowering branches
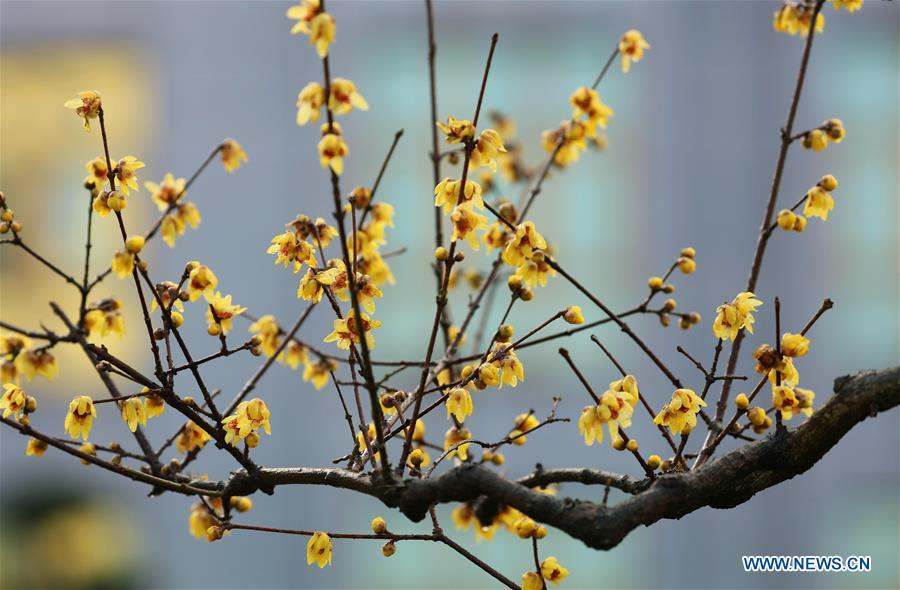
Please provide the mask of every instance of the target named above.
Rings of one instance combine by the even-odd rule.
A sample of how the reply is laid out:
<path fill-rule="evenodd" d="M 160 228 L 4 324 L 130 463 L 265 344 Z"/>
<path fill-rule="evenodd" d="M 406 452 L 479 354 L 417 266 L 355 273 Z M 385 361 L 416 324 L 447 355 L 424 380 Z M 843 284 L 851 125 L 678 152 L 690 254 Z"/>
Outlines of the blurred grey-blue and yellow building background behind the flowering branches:
<path fill-rule="evenodd" d="M 315 125 L 294 123 L 297 92 L 321 78 L 320 62 L 302 36 L 288 34 L 288 4 L 276 2 L 11 2 L 0 4 L 0 187 L 26 226 L 26 236 L 66 269 L 80 268 L 87 197 L 84 162 L 100 153 L 99 134 L 85 134 L 62 103 L 83 89 L 102 92 L 113 156 L 147 162 L 142 182 L 166 172 L 188 176 L 225 137 L 238 139 L 249 162 L 233 175 L 211 167 L 189 193 L 203 215 L 174 250 L 149 246 L 154 278 L 177 279 L 198 259 L 218 274 L 220 288 L 259 315 L 289 324 L 302 308 L 297 276 L 274 268 L 269 239 L 298 213 L 329 216 L 327 175 L 315 152 Z M 616 109 L 609 149 L 588 153 L 548 182 L 532 217 L 567 268 L 616 309 L 643 298 L 645 281 L 661 274 L 682 246 L 698 250 L 698 271 L 675 277 L 682 309 L 698 310 L 703 323 L 684 333 L 653 318 L 633 327 L 665 360 L 699 387 L 693 367 L 675 352 L 683 344 L 709 359 L 715 307 L 741 290 L 756 242 L 783 124 L 799 63 L 799 38 L 772 30 L 772 2 L 438 2 L 435 6 L 440 115 L 470 117 L 489 44 L 500 43 L 487 86 L 485 108 L 518 122 L 526 158 L 544 157 L 543 129 L 568 117 L 569 93 L 589 84 L 619 35 L 638 28 L 652 44 L 630 74 L 614 67 L 600 91 Z M 335 75 L 353 80 L 371 110 L 341 120 L 350 142 L 342 185 L 371 184 L 397 129 L 403 128 L 379 198 L 397 209 L 390 248 L 398 286 L 385 289 L 377 317 L 376 355 L 423 356 L 434 299 L 428 270 L 432 252 L 432 181 L 426 156 L 430 115 L 425 9 L 421 2 L 330 2 L 337 20 L 332 49 Z M 823 174 L 840 181 L 827 224 L 810 220 L 802 235 L 773 236 L 758 294 L 766 301 L 749 353 L 771 341 L 771 301 L 783 301 L 786 329 L 796 330 L 825 297 L 835 309 L 812 332 L 812 351 L 798 367 L 817 405 L 835 377 L 898 362 L 898 9 L 895 2 L 866 2 L 852 15 L 826 7 L 825 32 L 816 40 L 797 129 L 830 117 L 843 119 L 847 138 L 821 153 L 791 151 L 782 205 L 793 204 Z M 514 195 L 513 195 L 514 196 Z M 146 227 L 155 207 L 142 189 L 129 200 L 131 227 Z M 95 263 L 105 264 L 116 245 L 114 224 L 95 220 Z M 70 308 L 77 300 L 50 273 L 21 252 L 3 248 L 2 317 L 59 329 L 48 299 Z M 487 265 L 469 254 L 466 264 Z M 136 309 L 133 287 L 107 281 L 99 296 L 116 294 Z M 467 291 L 453 295 L 462 315 Z M 518 306 L 511 317 L 519 333 L 552 311 L 581 303 L 588 321 L 599 312 L 561 279 Z M 499 309 L 489 325 L 499 317 Z M 204 330 L 203 313 L 189 310 L 189 343 L 197 351 L 218 346 Z M 319 310 L 303 329 L 315 341 L 330 330 Z M 129 316 L 129 336 L 111 346 L 136 364 L 142 330 Z M 237 324 L 237 336 L 246 330 Z M 634 372 L 642 391 L 659 406 L 670 394 L 661 375 L 615 330 L 596 331 Z M 615 372 L 587 334 L 564 341 L 598 387 Z M 584 392 L 555 352 L 556 345 L 521 353 L 526 381 L 475 398 L 471 426 L 485 438 L 503 436 L 528 408 L 544 415 L 553 395 L 562 415 L 577 417 Z M 32 383 L 40 400 L 33 423 L 62 434 L 65 404 L 76 394 L 102 397 L 89 363 L 77 351 L 61 352 L 61 376 Z M 198 353 L 199 354 L 199 353 Z M 258 361 L 237 358 L 209 371 L 212 387 L 230 397 Z M 416 376 L 398 377 L 413 387 Z M 190 388 L 187 380 L 184 387 Z M 330 465 L 346 452 L 346 432 L 333 391 L 316 392 L 296 372 L 276 367 L 258 393 L 273 410 L 274 434 L 256 455 L 267 465 Z M 715 392 L 713 393 L 715 397 Z M 98 442 L 132 443 L 115 411 L 100 408 L 92 436 Z M 174 412 L 148 429 L 162 440 L 180 423 Z M 897 413 L 855 428 L 811 472 L 728 511 L 705 509 L 679 521 L 634 531 L 611 552 L 595 552 L 551 533 L 542 552 L 556 555 L 579 587 L 666 588 L 887 588 L 898 585 Z M 441 412 L 428 420 L 429 438 L 446 428 Z M 649 421 L 634 426 L 642 449 L 663 452 Z M 699 444 L 702 437 L 695 437 Z M 25 439 L 3 429 L 0 467 L 2 585 L 4 587 L 157 588 L 481 588 L 491 580 L 458 556 L 431 545 L 403 543 L 386 561 L 378 545 L 340 542 L 334 566 L 305 565 L 305 539 L 233 534 L 209 545 L 188 534 L 191 501 L 146 489 L 84 467 L 50 450 L 35 460 Z M 220 478 L 234 467 L 205 452 L 196 464 Z M 637 473 L 629 457 L 585 447 L 574 423 L 547 428 L 525 447 L 507 453 L 503 471 L 588 465 Z M 597 500 L 602 489 L 567 486 L 563 495 Z M 615 493 L 611 500 L 620 499 Z M 281 488 L 254 498 L 248 523 L 361 531 L 384 515 L 392 530 L 424 531 L 398 514 L 350 493 Z M 450 507 L 440 514 L 452 529 Z M 510 577 L 531 567 L 524 543 L 498 534 L 476 546 Z M 745 554 L 871 555 L 867 574 L 744 574 Z"/>

